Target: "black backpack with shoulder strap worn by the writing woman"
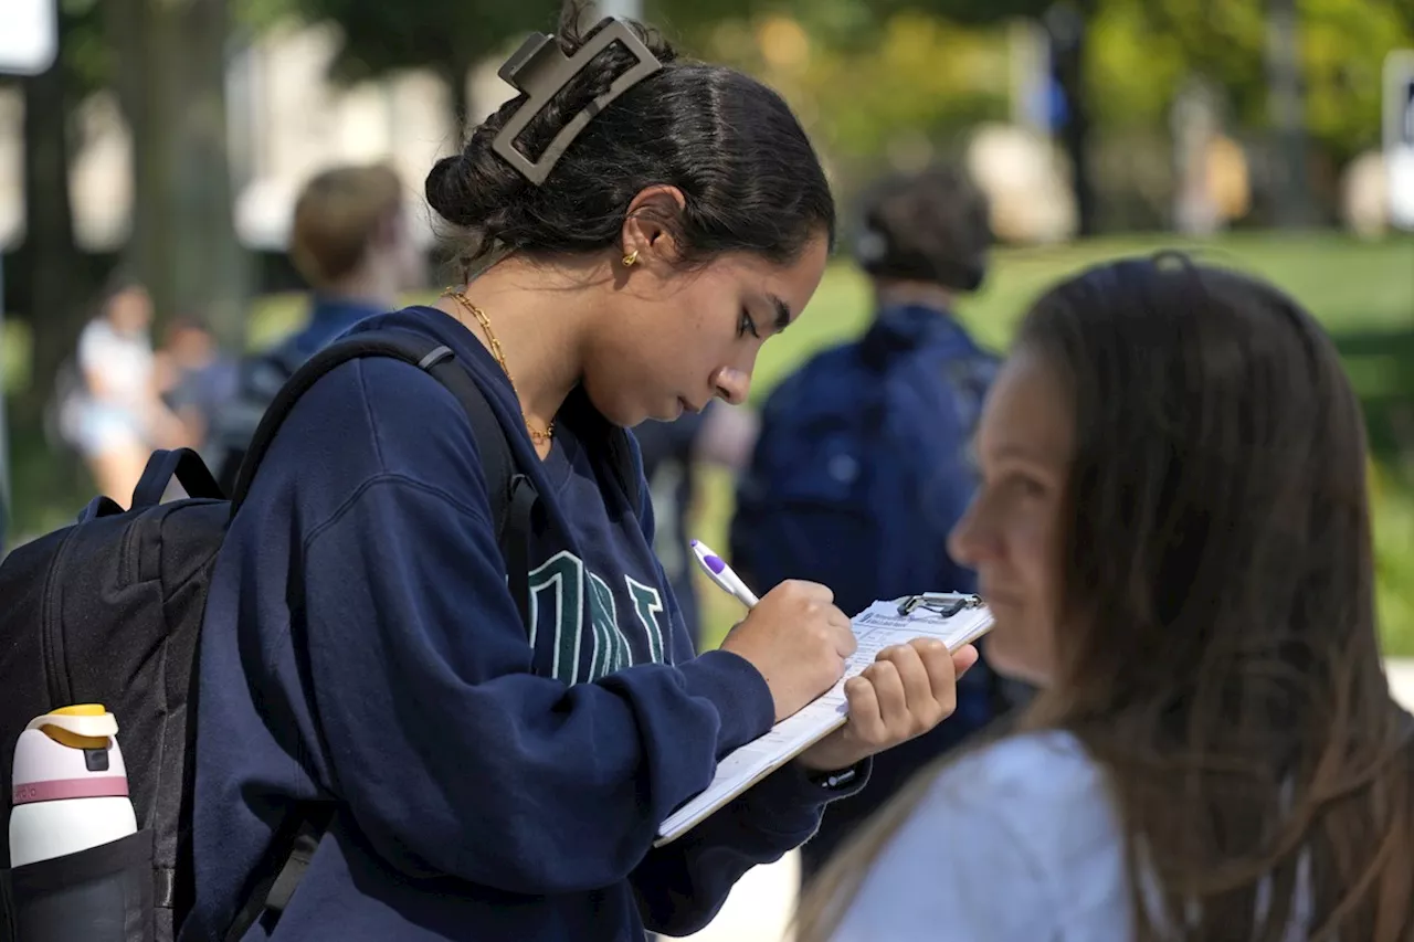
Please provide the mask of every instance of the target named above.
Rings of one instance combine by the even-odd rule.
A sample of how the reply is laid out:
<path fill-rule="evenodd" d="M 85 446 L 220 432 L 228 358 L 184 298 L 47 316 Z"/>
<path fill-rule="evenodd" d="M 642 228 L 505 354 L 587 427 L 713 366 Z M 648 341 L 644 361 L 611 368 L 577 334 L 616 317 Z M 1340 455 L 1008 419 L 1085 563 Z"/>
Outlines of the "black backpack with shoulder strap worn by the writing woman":
<path fill-rule="evenodd" d="M 262 419 L 229 502 L 195 453 L 154 453 L 132 509 L 95 498 L 76 523 L 20 546 L 0 566 L 0 820 L 10 816 L 14 747 L 25 724 L 62 706 L 102 703 L 117 717 L 139 822 L 130 839 L 13 870 L 8 842 L 0 842 L 0 942 L 175 936 L 194 894 L 188 754 L 197 731 L 195 656 L 216 553 L 296 400 L 320 376 L 361 356 L 417 365 L 467 410 L 512 594 L 527 617 L 534 488 L 516 470 L 485 395 L 452 351 L 433 339 L 385 328 L 317 354 Z M 611 427 L 607 440 L 607 461 L 633 501 L 639 487 L 626 433 Z M 163 504 L 173 479 L 188 496 Z M 274 860 L 283 864 L 259 881 L 228 939 L 239 939 L 256 919 L 279 918 L 325 825 L 294 822 L 277 839 Z M 95 935 L 98 922 L 85 911 L 119 914 L 110 919 L 113 934 Z"/>

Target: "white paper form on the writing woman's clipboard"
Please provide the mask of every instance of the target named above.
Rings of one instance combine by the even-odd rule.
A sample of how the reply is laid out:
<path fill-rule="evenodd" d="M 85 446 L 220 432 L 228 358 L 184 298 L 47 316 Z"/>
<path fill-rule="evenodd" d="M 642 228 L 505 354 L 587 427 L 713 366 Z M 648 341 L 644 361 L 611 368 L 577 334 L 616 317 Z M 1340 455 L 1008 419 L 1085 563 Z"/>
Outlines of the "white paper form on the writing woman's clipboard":
<path fill-rule="evenodd" d="M 660 847 L 680 837 L 732 798 L 841 727 L 848 711 L 844 682 L 874 663 L 884 648 L 908 644 L 913 638 L 937 638 L 949 651 L 957 651 L 984 635 L 991 622 L 991 611 L 980 601 L 947 617 L 923 605 L 901 615 L 899 600 L 874 603 L 851 622 L 858 648 L 846 662 L 844 678 L 799 713 L 776 723 L 765 735 L 723 757 L 711 784 L 662 823 L 655 846 Z"/>

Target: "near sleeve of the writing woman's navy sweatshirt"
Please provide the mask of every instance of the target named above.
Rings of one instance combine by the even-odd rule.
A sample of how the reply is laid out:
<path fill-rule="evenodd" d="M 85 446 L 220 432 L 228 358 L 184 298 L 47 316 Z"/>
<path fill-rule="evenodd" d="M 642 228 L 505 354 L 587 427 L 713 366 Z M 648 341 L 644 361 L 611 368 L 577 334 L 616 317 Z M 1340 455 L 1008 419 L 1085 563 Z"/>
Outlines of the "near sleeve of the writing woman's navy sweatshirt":
<path fill-rule="evenodd" d="M 454 495 L 375 475 L 305 540 L 329 788 L 406 873 L 520 894 L 611 885 L 717 757 L 769 727 L 769 690 L 728 652 L 574 686 L 532 675 L 484 484 L 467 479 L 479 501 L 465 479 Z"/>

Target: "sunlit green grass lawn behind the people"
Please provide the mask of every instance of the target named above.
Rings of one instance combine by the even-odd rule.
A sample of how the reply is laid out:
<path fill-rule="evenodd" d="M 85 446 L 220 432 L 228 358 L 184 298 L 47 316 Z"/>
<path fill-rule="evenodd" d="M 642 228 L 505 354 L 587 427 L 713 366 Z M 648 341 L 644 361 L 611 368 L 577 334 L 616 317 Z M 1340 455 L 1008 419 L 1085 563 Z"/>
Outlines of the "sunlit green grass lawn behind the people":
<path fill-rule="evenodd" d="M 1372 245 L 1329 233 L 1253 233 L 1199 243 L 1154 236 L 1008 249 L 997 253 L 987 286 L 960 306 L 959 313 L 984 344 L 1004 349 L 1027 307 L 1056 279 L 1104 259 L 1159 248 L 1184 248 L 1199 260 L 1260 274 L 1301 300 L 1331 331 L 1370 426 L 1386 649 L 1414 656 L 1414 239 Z M 252 345 L 270 342 L 296 327 L 303 315 L 304 301 L 298 296 L 262 298 L 252 311 Z M 799 322 L 766 344 L 756 365 L 752 397 L 759 400 L 812 352 L 857 334 L 868 315 L 864 279 L 847 264 L 833 267 Z M 6 375 L 23 376 L 24 338 L 11 330 L 3 339 Z M 18 443 L 16 448 L 17 502 L 21 523 L 44 529 L 71 516 L 78 498 L 71 494 L 74 481 L 57 477 L 34 441 Z M 693 535 L 724 547 L 730 515 L 730 477 L 704 472 Z M 701 598 L 708 639 L 715 641 L 741 612 L 706 578 Z"/>

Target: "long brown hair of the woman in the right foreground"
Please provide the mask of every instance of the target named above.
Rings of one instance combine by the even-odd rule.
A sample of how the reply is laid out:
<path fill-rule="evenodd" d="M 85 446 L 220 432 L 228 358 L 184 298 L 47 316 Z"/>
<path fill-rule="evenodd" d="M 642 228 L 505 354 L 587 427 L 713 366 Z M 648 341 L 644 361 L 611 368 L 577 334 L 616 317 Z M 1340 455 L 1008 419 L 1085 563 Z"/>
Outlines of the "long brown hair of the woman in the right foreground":
<path fill-rule="evenodd" d="M 1384 676 L 1365 426 L 1329 338 L 1271 286 L 1165 253 L 1055 287 L 1018 347 L 1076 426 L 1059 663 L 1018 727 L 1066 730 L 1106 771 L 1134 938 L 1290 938 L 1298 892 L 1308 938 L 1414 938 L 1414 723 Z M 822 874 L 799 942 L 831 935 L 936 772 Z"/>

